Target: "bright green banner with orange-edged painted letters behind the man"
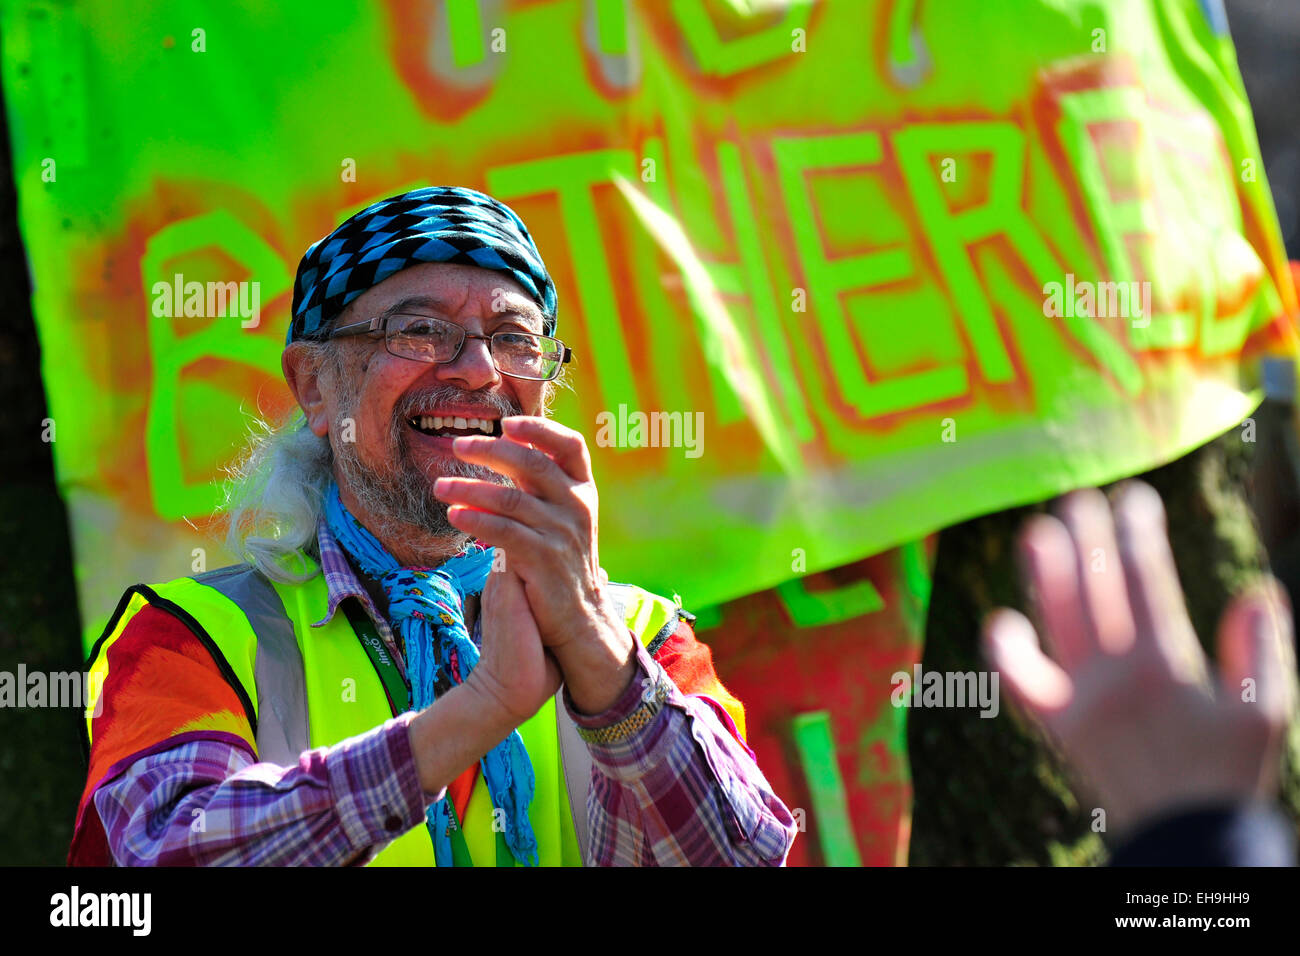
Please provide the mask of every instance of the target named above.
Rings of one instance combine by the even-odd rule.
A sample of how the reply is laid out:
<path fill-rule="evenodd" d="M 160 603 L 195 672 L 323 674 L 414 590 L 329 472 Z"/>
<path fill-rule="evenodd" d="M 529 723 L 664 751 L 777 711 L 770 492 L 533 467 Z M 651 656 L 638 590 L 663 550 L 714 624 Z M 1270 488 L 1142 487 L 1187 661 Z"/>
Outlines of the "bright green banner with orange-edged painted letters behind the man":
<path fill-rule="evenodd" d="M 139 7 L 3 8 L 88 633 L 228 561 L 299 256 L 417 185 L 528 222 L 602 559 L 696 606 L 1150 468 L 1295 351 L 1209 0 Z"/>

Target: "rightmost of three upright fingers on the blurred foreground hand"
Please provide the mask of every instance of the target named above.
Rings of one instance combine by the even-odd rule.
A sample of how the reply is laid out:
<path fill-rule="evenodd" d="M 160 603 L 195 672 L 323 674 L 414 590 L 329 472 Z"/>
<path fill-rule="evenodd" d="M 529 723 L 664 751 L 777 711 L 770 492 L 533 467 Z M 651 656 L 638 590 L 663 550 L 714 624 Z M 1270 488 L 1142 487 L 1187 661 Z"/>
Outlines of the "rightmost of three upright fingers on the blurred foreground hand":
<path fill-rule="evenodd" d="M 1154 650 L 1176 680 L 1202 682 L 1205 654 L 1187 617 L 1160 494 L 1141 481 L 1126 481 L 1115 493 L 1114 511 L 1139 650 Z"/>

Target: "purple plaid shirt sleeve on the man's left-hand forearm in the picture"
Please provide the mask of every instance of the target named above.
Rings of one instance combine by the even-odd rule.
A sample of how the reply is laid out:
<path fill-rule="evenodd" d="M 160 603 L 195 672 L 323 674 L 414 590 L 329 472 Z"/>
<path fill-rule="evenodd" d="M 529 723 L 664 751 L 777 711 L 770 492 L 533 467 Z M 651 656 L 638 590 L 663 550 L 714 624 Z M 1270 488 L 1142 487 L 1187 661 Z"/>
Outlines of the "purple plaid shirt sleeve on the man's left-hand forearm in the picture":
<path fill-rule="evenodd" d="M 337 866 L 369 862 L 424 822 L 403 714 L 298 766 L 255 763 L 218 740 L 142 756 L 95 792 L 120 866 Z"/>

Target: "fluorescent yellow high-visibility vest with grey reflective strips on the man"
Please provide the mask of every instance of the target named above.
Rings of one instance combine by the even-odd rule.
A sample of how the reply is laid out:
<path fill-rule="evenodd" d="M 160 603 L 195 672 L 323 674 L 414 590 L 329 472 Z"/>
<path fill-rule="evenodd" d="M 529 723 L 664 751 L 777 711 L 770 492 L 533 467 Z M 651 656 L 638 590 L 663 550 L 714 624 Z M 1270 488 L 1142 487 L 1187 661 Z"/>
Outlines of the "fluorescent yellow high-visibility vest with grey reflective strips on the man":
<path fill-rule="evenodd" d="M 152 591 L 183 609 L 205 632 L 211 649 L 225 658 L 225 670 L 234 674 L 240 685 L 237 689 L 254 706 L 250 722 L 256 728 L 259 760 L 294 766 L 304 750 L 332 747 L 391 719 L 384 684 L 347 615 L 338 613 L 321 627 L 312 627 L 328 613 L 322 575 L 302 584 L 281 584 L 243 564 L 182 578 Z M 677 606 L 672 601 L 625 584 L 611 584 L 611 593 L 642 644 L 656 648 L 676 628 Z M 146 604 L 143 596 L 133 596 L 113 633 L 103 641 L 92 672 L 107 666 L 108 646 Z M 590 754 L 556 698 L 549 700 L 519 732 L 536 778 L 528 817 L 537 836 L 538 862 L 580 866 L 584 861 L 578 848 L 588 845 Z M 491 799 L 480 775 L 463 821 L 469 856 L 477 866 L 497 862 L 493 822 Z M 428 831 L 421 825 L 402 834 L 376 855 L 372 865 L 433 866 Z"/>

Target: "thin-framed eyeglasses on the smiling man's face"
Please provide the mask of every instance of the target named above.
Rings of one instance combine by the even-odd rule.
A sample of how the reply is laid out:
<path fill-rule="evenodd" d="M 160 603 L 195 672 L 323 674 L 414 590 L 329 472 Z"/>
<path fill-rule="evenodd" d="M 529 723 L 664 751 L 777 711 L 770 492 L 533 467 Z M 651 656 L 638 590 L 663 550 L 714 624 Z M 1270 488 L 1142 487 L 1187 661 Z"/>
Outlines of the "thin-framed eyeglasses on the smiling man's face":
<path fill-rule="evenodd" d="M 455 362 L 467 338 L 482 338 L 488 342 L 488 351 L 498 372 L 532 381 L 551 381 L 560 373 L 560 367 L 573 358 L 573 350 L 551 336 L 514 330 L 474 336 L 455 323 L 406 312 L 344 325 L 334 329 L 329 338 L 364 336 L 370 332 L 384 333 L 384 345 L 390 354 L 438 365 Z"/>

